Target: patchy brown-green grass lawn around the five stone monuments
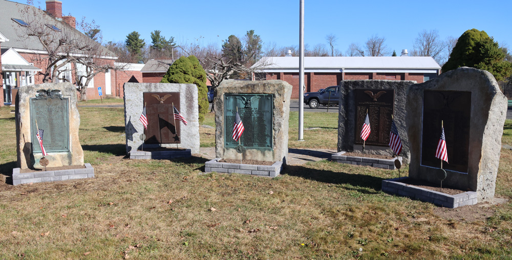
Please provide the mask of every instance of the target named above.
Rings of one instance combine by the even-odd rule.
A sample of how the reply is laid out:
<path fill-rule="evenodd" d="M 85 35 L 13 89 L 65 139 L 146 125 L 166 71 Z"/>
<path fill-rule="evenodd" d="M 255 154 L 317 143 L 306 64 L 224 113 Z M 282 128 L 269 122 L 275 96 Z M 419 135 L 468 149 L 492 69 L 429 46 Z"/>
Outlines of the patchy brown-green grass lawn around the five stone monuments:
<path fill-rule="evenodd" d="M 203 175 L 206 160 L 197 157 L 122 159 L 122 108 L 79 107 L 80 142 L 96 177 L 12 186 L 11 109 L 0 107 L 0 259 L 512 258 L 508 149 L 496 196 L 509 201 L 472 206 L 490 214 L 460 219 L 465 207 L 381 192 L 392 170 L 319 161 L 269 179 Z M 292 112 L 290 147 L 335 149 L 337 114 L 305 113 L 305 127 L 320 128 L 305 130 L 305 142 L 294 141 L 296 121 Z M 204 124 L 214 125 L 212 114 Z M 215 129 L 201 129 L 201 145 L 213 145 Z M 512 145 L 512 121 L 504 130 L 503 144 Z"/>

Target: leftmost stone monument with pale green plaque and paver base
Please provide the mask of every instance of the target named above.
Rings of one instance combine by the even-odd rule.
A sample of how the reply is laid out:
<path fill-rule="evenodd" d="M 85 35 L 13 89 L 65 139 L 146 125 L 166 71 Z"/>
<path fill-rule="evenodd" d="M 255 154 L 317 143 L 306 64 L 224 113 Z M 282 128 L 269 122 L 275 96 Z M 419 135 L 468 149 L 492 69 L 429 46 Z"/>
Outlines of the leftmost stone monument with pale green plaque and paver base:
<path fill-rule="evenodd" d="M 16 95 L 18 168 L 13 169 L 14 185 L 94 177 L 91 165 L 83 163 L 76 101 L 76 87 L 71 83 L 44 83 L 19 89 Z M 51 170 L 45 170 L 48 168 Z"/>

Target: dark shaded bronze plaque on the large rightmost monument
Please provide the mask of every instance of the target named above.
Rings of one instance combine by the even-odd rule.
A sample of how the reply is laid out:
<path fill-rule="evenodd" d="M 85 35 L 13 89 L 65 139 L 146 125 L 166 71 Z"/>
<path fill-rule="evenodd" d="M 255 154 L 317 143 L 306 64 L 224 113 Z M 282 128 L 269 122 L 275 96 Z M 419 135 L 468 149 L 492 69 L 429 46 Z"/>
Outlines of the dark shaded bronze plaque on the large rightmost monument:
<path fill-rule="evenodd" d="M 448 163 L 443 169 L 467 173 L 470 150 L 471 92 L 424 91 L 421 165 L 439 168 L 436 149 L 444 125 Z"/>

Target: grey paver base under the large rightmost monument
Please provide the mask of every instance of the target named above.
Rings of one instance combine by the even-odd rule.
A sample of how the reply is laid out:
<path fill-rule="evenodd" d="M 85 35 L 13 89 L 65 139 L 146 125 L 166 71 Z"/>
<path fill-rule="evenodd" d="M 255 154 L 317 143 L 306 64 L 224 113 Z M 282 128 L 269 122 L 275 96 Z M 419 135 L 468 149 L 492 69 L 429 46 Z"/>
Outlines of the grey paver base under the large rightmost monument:
<path fill-rule="evenodd" d="M 398 182 L 407 180 L 409 177 L 382 180 L 382 191 L 389 194 L 396 194 L 403 197 L 434 203 L 435 205 L 456 208 L 465 205 L 477 204 L 477 192 L 466 191 L 455 195 L 441 193 L 435 190 L 424 189 L 417 186 Z"/>

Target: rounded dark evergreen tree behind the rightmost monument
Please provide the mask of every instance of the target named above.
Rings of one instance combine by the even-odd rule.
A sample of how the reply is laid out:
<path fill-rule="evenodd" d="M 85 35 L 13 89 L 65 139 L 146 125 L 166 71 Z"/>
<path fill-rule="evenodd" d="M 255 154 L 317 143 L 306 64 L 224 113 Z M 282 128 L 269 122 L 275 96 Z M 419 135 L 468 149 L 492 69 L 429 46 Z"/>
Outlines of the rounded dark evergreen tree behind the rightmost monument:
<path fill-rule="evenodd" d="M 512 65 L 505 60 L 505 53 L 498 46 L 498 42 L 477 29 L 467 30 L 459 37 L 442 71 L 447 72 L 464 66 L 486 70 L 492 73 L 497 81 L 512 73 Z"/>

